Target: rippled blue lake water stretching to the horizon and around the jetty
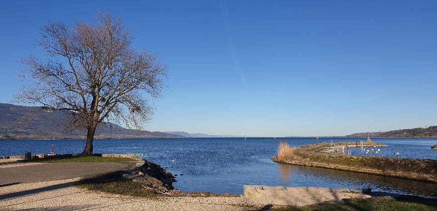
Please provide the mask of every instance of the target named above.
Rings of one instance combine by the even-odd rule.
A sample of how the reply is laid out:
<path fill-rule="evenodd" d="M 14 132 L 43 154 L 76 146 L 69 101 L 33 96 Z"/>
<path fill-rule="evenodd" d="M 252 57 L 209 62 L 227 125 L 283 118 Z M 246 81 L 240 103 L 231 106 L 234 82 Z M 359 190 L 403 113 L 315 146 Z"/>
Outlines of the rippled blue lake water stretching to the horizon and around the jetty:
<path fill-rule="evenodd" d="M 422 196 L 437 196 L 437 184 L 376 176 L 317 167 L 273 162 L 278 142 L 292 146 L 322 141 L 360 141 L 366 138 L 150 138 L 97 139 L 95 153 L 139 153 L 145 159 L 168 167 L 178 174 L 176 188 L 182 191 L 243 193 L 243 184 L 283 186 L 323 186 L 367 188 Z M 372 138 L 387 144 L 380 155 L 437 159 L 437 150 L 430 147 L 437 138 Z M 78 153 L 84 140 L 5 140 L 0 141 L 0 155 L 49 153 L 55 144 L 56 153 Z M 352 147 L 353 154 L 365 154 Z M 180 175 L 183 174 L 183 175 Z M 1 179 L 0 179 L 1 183 Z"/>

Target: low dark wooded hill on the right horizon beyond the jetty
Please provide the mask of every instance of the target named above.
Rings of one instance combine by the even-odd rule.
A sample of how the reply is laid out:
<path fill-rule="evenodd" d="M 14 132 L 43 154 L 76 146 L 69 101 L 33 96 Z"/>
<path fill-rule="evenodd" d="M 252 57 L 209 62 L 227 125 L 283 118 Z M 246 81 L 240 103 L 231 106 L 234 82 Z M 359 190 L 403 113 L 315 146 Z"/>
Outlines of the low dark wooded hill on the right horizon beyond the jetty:
<path fill-rule="evenodd" d="M 366 137 L 367 132 L 346 135 L 347 137 Z M 372 137 L 437 137 L 437 126 L 426 128 L 397 129 L 386 132 L 371 132 Z"/>

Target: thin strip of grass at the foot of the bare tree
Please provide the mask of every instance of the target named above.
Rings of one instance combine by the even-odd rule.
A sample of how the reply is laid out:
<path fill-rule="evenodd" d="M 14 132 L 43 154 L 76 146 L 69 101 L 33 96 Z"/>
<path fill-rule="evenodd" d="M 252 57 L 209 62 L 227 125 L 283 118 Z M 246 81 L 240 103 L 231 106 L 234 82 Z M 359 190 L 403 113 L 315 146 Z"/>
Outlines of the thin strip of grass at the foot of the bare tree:
<path fill-rule="evenodd" d="M 74 156 L 62 158 L 39 158 L 32 162 L 118 162 L 118 161 L 135 161 L 128 157 L 101 157 L 101 156 Z"/>

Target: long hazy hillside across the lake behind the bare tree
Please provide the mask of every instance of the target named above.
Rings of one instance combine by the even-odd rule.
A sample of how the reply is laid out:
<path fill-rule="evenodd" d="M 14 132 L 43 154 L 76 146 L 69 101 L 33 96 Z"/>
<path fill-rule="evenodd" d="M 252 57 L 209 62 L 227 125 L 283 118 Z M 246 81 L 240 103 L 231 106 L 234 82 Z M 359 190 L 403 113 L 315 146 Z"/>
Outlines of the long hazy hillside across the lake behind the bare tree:
<path fill-rule="evenodd" d="M 69 111 L 40 111 L 38 107 L 0 103 L 0 139 L 83 138 L 85 130 L 69 131 L 65 119 Z M 114 123 L 101 124 L 96 138 L 184 137 L 166 132 L 127 129 Z"/>

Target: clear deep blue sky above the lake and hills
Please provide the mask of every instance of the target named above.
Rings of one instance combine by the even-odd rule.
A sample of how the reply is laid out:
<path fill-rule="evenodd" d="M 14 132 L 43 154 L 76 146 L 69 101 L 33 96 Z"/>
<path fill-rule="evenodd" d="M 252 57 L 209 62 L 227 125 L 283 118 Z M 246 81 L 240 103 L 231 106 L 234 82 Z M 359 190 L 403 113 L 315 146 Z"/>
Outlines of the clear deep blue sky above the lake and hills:
<path fill-rule="evenodd" d="M 49 20 L 122 17 L 168 65 L 146 128 L 343 135 L 437 124 L 437 1 L 0 2 L 0 102 Z"/>

